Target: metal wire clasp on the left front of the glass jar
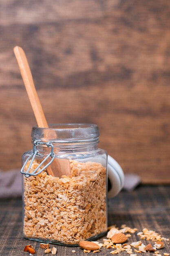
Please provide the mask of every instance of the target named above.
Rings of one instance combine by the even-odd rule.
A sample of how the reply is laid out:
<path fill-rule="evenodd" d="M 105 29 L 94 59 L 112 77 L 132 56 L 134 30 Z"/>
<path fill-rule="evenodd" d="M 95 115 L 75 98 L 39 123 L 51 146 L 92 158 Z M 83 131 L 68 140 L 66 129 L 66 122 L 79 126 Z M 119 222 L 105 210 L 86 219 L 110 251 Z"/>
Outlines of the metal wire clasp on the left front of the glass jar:
<path fill-rule="evenodd" d="M 32 172 L 32 173 L 29 173 L 30 169 L 31 169 L 31 166 L 33 164 L 33 161 L 35 159 L 36 156 L 40 156 L 41 154 L 39 153 L 38 150 L 36 150 L 36 146 L 38 145 L 46 145 L 47 147 L 51 147 L 51 152 L 46 155 L 46 157 L 44 158 L 44 160 L 39 164 L 39 166 Z M 51 157 L 51 160 L 48 164 L 46 164 L 44 167 L 42 167 L 42 169 L 40 168 L 44 162 L 46 162 L 46 160 Z M 31 159 L 32 158 L 32 159 Z M 34 141 L 34 144 L 33 144 L 33 153 L 26 159 L 24 165 L 22 166 L 22 169 L 21 169 L 21 173 L 25 175 L 25 177 L 30 177 L 30 176 L 36 176 L 38 175 L 39 173 L 41 173 L 42 171 L 44 171 L 46 169 L 46 167 L 48 167 L 54 160 L 55 158 L 55 154 L 53 152 L 53 144 L 51 142 L 42 142 L 42 141 L 39 141 L 39 140 L 35 140 Z M 29 162 L 29 160 L 31 159 L 31 162 L 29 164 L 29 167 L 26 171 L 24 171 L 24 168 L 26 166 L 26 164 Z M 38 171 L 38 169 L 40 168 L 40 171 Z"/>

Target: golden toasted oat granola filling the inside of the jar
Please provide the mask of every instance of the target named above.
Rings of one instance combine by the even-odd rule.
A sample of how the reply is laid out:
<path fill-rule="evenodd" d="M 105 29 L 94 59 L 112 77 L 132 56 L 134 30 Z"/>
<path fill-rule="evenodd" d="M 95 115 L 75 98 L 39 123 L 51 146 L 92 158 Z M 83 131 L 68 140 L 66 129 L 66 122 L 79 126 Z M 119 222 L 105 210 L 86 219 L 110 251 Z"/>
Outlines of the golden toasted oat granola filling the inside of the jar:
<path fill-rule="evenodd" d="M 69 176 L 24 177 L 24 237 L 74 245 L 107 231 L 106 168 L 69 161 Z"/>

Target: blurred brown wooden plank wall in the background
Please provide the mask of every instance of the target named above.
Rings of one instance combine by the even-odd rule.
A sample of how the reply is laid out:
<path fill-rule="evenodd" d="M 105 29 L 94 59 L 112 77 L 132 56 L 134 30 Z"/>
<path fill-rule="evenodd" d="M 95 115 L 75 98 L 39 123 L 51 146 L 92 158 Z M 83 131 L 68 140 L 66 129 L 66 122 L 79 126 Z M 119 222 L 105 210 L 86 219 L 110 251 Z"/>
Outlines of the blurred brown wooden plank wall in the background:
<path fill-rule="evenodd" d="M 0 1 L 3 170 L 20 167 L 35 124 L 15 45 L 49 123 L 96 123 L 126 173 L 170 182 L 169 0 Z"/>

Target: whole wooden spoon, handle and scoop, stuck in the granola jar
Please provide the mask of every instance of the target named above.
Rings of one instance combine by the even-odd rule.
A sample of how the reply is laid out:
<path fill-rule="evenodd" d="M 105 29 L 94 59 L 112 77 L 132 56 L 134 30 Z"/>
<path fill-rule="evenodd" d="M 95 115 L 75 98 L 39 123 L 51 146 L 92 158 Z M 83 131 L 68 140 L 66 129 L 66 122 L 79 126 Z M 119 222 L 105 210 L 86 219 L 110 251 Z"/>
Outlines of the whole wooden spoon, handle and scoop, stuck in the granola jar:
<path fill-rule="evenodd" d="M 33 108 L 35 119 L 37 120 L 38 127 L 49 128 L 44 112 L 42 110 L 40 99 L 35 89 L 33 77 L 32 77 L 29 63 L 27 61 L 24 50 L 21 47 L 15 46 L 13 48 L 13 51 L 20 68 L 20 73 L 24 81 L 24 85 L 25 85 L 29 100 L 31 102 L 31 106 Z M 61 177 L 62 175 L 70 175 L 71 170 L 70 170 L 69 160 L 55 158 L 52 164 L 47 167 L 47 172 L 49 175 L 52 175 L 54 177 Z"/>

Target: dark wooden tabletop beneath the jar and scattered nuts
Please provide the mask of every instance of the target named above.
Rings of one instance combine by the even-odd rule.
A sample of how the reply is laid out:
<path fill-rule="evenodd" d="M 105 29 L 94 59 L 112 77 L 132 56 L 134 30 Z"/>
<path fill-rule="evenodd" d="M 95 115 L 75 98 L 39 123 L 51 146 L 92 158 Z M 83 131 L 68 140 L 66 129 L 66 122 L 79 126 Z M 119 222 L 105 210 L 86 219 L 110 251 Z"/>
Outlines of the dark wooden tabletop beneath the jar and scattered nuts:
<path fill-rule="evenodd" d="M 21 199 L 0 201 L 0 256 L 29 255 L 23 252 L 24 246 L 30 241 L 22 237 L 21 205 Z M 157 231 L 163 237 L 170 238 L 170 186 L 140 186 L 132 192 L 121 191 L 116 198 L 109 202 L 108 220 L 109 225 L 116 224 L 117 227 L 120 227 L 121 224 L 126 224 L 132 228 L 136 227 L 138 231 L 146 227 Z M 132 237 L 128 238 L 128 243 L 136 240 L 139 240 L 139 236 L 132 234 Z M 149 243 L 146 240 L 142 240 L 142 242 Z M 151 243 L 154 244 L 154 242 Z M 36 249 L 37 254 L 35 255 L 45 255 L 44 251 L 40 249 L 40 243 L 31 242 L 31 245 Z M 56 247 L 57 256 L 86 255 L 79 247 Z M 76 253 L 71 252 L 73 249 Z M 111 250 L 113 249 L 102 248 L 98 254 L 101 256 L 111 255 L 109 254 Z M 159 252 L 162 256 L 164 252 L 169 253 L 169 242 L 165 242 L 165 248 Z M 128 255 L 126 252 L 121 252 L 119 255 L 122 254 Z M 146 253 L 145 256 L 149 254 Z"/>

